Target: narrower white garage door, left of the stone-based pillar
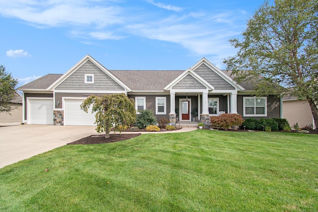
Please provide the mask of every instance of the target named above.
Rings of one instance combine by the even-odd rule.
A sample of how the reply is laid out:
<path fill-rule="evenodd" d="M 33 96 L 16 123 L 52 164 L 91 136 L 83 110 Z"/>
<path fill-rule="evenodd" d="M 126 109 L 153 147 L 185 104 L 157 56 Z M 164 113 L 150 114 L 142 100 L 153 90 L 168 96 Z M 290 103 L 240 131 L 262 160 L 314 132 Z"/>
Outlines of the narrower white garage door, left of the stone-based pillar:
<path fill-rule="evenodd" d="M 53 125 L 53 99 L 29 99 L 29 124 Z"/>

